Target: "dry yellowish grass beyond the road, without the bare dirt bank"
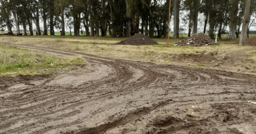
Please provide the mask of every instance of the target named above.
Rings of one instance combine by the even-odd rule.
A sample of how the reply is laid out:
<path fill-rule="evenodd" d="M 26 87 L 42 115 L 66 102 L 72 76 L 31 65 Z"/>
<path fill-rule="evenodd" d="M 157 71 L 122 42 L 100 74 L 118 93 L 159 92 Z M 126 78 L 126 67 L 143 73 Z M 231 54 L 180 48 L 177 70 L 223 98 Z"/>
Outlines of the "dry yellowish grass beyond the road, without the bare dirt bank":
<path fill-rule="evenodd" d="M 42 46 L 50 48 L 65 49 L 71 51 L 81 51 L 85 53 L 114 56 L 120 58 L 135 59 L 140 61 L 150 61 L 158 63 L 173 63 L 173 59 L 179 54 L 199 54 L 202 51 L 218 51 L 222 55 L 233 54 L 232 57 L 244 55 L 245 59 L 241 66 L 250 65 L 254 67 L 256 61 L 255 47 L 239 46 L 238 40 L 228 41 L 218 40 L 220 46 L 190 47 L 190 46 L 166 46 L 166 39 L 154 39 L 160 45 L 114 45 L 114 43 L 126 38 L 114 37 L 74 37 L 74 36 L 23 36 L 8 37 L 2 36 L 2 41 L 6 43 L 26 44 L 32 46 Z M 170 39 L 170 44 L 178 42 L 180 39 Z M 220 55 L 220 56 L 222 56 Z M 236 57 L 234 57 L 236 58 Z M 182 63 L 182 62 L 181 62 Z M 184 63 L 187 65 L 186 61 Z M 191 63 L 196 67 L 207 67 L 204 64 Z"/>

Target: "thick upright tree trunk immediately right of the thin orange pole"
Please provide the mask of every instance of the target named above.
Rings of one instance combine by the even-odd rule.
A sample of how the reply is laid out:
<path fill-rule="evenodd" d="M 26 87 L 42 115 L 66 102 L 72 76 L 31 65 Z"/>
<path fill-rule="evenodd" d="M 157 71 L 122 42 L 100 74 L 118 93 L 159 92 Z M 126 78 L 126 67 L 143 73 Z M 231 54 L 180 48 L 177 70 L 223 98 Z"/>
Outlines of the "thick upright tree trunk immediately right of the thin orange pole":
<path fill-rule="evenodd" d="M 174 0 L 174 27 L 173 27 L 173 38 L 179 38 L 179 25 L 180 25 L 180 0 Z"/>

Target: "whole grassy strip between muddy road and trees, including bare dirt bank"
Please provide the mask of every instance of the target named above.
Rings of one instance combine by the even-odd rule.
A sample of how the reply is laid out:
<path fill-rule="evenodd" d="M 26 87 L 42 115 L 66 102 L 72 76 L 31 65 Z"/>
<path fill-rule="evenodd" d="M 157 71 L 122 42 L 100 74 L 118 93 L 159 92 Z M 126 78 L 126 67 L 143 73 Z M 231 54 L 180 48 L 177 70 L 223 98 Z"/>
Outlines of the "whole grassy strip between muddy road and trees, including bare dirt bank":
<path fill-rule="evenodd" d="M 84 53 L 128 58 L 154 63 L 179 64 L 193 67 L 208 67 L 240 73 L 256 72 L 256 47 L 238 46 L 238 39 L 218 40 L 220 46 L 190 47 L 173 46 L 180 39 L 154 39 L 160 45 L 114 45 L 122 37 L 74 37 L 74 36 L 28 36 L 2 37 L 2 42 L 58 48 Z M 251 69 L 245 69 L 249 66 Z"/>

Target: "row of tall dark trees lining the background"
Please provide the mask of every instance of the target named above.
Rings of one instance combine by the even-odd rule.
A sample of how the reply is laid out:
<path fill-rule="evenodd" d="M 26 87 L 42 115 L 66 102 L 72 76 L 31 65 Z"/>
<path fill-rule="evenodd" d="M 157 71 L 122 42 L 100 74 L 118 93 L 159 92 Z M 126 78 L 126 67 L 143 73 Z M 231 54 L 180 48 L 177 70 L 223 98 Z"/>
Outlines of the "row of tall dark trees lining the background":
<path fill-rule="evenodd" d="M 245 0 L 171 0 L 173 37 L 179 38 L 181 25 L 188 29 L 188 36 L 198 32 L 198 20 L 203 20 L 203 32 L 213 39 L 221 38 L 229 29 L 228 39 L 238 38 L 242 24 Z M 82 27 L 86 36 L 132 36 L 144 33 L 149 37 L 166 37 L 170 0 L 0 0 L 0 28 L 13 34 L 15 27 L 20 34 L 54 35 L 58 29 L 65 35 L 65 28 L 80 35 Z M 184 12 L 187 12 L 184 14 Z M 203 17 L 198 18 L 199 14 Z M 256 0 L 250 2 L 250 18 L 255 18 Z M 42 20 L 43 28 L 40 28 Z M 182 24 L 181 22 L 182 21 Z M 250 20 L 248 33 L 254 20 Z M 208 30 L 207 30 L 208 27 Z M 28 31 L 27 31 L 28 29 Z"/>

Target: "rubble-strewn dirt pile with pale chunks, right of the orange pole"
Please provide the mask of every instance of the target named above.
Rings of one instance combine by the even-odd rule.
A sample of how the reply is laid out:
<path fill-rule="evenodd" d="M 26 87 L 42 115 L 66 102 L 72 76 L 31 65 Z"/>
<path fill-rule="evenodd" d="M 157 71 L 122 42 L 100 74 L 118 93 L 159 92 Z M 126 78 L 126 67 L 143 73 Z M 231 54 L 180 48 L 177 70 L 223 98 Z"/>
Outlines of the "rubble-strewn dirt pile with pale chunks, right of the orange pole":
<path fill-rule="evenodd" d="M 187 37 L 186 39 L 182 39 L 181 41 L 174 44 L 175 46 L 184 46 L 190 45 L 195 47 L 200 46 L 208 46 L 208 45 L 218 45 L 212 42 L 212 39 L 205 35 L 204 33 L 197 33 L 192 35 L 191 37 Z"/>

